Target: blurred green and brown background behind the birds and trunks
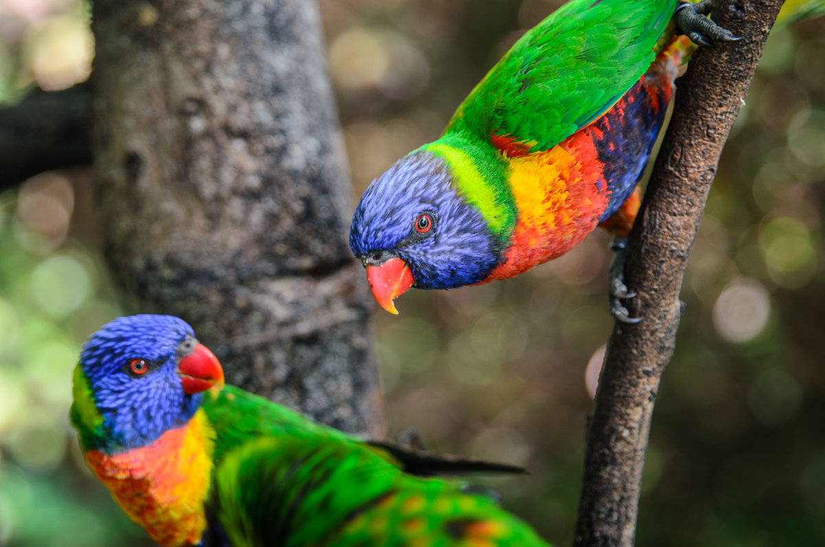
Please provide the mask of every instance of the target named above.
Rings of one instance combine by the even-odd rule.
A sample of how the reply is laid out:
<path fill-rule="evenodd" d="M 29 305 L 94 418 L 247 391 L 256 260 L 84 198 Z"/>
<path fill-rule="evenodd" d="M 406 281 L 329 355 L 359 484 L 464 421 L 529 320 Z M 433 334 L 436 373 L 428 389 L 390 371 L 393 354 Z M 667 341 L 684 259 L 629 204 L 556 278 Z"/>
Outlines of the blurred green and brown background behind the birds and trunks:
<path fill-rule="evenodd" d="M 561 2 L 322 0 L 359 196 Z M 87 78 L 82 0 L 0 0 L 0 100 Z M 2 169 L 2 159 L 0 159 Z M 825 21 L 775 31 L 686 274 L 637 545 L 825 545 Z M 354 203 L 354 201 L 353 201 Z M 569 545 L 584 428 L 612 321 L 606 234 L 505 282 L 377 311 L 393 432 L 524 464 L 488 481 Z M 82 341 L 120 313 L 87 169 L 0 193 L 0 545 L 149 545 L 92 478 L 66 412 Z M 209 340 L 204 340 L 208 345 Z"/>

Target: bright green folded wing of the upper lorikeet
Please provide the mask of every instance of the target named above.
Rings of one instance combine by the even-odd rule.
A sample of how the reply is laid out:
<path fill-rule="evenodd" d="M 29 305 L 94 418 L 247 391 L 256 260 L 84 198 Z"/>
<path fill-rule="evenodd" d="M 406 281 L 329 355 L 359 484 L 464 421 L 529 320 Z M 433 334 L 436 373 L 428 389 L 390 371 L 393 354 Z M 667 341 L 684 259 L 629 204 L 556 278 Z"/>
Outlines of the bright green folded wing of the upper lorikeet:
<path fill-rule="evenodd" d="M 446 132 L 548 150 L 648 69 L 676 0 L 573 0 L 528 31 L 461 103 Z"/>

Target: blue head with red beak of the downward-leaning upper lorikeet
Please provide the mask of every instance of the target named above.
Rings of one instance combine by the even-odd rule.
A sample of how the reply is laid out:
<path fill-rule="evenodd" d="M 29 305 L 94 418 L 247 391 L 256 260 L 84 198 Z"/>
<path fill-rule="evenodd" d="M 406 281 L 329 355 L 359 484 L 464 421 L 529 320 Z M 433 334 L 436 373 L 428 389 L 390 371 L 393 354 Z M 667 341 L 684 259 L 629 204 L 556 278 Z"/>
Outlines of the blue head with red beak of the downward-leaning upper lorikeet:
<path fill-rule="evenodd" d="M 456 191 L 446 160 L 427 150 L 399 159 L 361 196 L 350 248 L 367 269 L 384 309 L 409 287 L 456 288 L 487 278 L 501 240 L 477 207 Z"/>

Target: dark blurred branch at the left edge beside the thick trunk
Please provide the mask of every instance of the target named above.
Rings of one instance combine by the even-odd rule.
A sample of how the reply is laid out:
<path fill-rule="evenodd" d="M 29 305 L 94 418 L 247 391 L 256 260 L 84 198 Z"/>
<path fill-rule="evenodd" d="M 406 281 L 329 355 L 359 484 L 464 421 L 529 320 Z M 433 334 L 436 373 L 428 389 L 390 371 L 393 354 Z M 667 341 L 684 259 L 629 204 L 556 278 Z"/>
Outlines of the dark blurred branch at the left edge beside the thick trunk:
<path fill-rule="evenodd" d="M 0 189 L 32 175 L 92 163 L 86 84 L 63 91 L 32 91 L 0 108 Z"/>

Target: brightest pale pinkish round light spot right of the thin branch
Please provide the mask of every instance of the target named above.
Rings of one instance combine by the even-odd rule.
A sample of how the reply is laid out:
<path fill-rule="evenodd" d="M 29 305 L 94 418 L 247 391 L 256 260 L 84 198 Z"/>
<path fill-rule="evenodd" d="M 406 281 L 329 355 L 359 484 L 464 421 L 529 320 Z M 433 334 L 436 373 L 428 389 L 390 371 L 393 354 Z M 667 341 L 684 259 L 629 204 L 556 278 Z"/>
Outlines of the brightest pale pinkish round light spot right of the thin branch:
<path fill-rule="evenodd" d="M 747 342 L 755 338 L 771 314 L 771 297 L 756 279 L 737 278 L 719 294 L 714 304 L 714 326 L 725 340 Z"/>

